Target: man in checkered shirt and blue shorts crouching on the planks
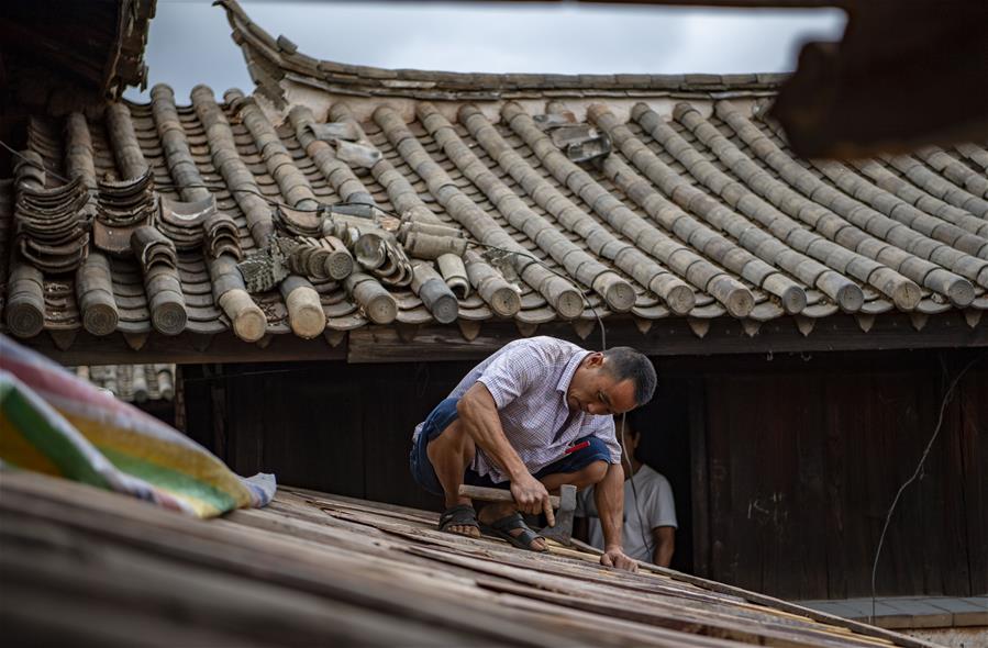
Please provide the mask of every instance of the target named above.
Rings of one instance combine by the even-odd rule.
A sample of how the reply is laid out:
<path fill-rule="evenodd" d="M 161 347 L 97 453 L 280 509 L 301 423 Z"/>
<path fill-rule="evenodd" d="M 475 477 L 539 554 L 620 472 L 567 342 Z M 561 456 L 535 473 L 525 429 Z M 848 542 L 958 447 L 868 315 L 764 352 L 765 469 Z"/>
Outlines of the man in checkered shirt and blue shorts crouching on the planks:
<path fill-rule="evenodd" d="M 624 471 L 613 415 L 647 403 L 655 382 L 652 362 L 629 347 L 588 351 L 552 337 L 506 345 L 467 373 L 412 436 L 412 476 L 445 498 L 440 529 L 479 537 L 482 525 L 514 546 L 544 551 L 545 539 L 521 513 L 552 521 L 549 491 L 597 484 L 600 562 L 634 571 L 621 545 Z M 489 503 L 478 516 L 459 495 L 462 483 L 510 487 L 514 502 Z"/>

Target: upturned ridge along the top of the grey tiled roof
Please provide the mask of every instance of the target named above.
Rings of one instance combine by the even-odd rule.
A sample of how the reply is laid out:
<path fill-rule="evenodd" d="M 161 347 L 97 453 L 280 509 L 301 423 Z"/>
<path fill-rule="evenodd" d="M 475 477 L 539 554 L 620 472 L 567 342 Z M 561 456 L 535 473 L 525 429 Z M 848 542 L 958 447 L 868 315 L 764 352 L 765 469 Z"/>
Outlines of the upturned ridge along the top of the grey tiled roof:
<path fill-rule="evenodd" d="M 503 100 L 555 92 L 565 96 L 774 94 L 788 74 L 488 74 L 385 69 L 321 60 L 299 52 L 288 37 L 271 36 L 236 0 L 215 0 L 226 11 L 233 42 L 241 48 L 257 90 L 285 105 L 282 81 L 355 97 L 406 97 L 432 101 Z"/>

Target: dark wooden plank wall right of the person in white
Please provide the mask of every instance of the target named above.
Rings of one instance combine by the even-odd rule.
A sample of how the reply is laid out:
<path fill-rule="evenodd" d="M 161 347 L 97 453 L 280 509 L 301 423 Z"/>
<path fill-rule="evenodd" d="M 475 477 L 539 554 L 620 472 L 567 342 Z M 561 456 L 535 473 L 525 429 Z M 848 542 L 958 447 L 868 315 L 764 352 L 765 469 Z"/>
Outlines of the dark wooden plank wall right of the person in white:
<path fill-rule="evenodd" d="M 979 351 L 983 356 L 984 351 Z M 896 351 L 703 362 L 713 579 L 787 599 L 870 593 L 886 513 L 915 470 L 948 382 L 976 354 Z M 880 595 L 988 591 L 988 358 L 957 386 L 922 478 L 899 502 Z"/>

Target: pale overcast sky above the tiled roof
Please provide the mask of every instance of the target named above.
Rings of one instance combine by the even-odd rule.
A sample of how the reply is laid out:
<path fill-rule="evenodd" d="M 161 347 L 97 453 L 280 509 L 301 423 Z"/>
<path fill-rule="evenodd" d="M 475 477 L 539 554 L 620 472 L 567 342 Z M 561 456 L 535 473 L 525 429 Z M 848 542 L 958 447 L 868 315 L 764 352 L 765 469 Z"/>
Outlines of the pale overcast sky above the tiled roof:
<path fill-rule="evenodd" d="M 256 23 L 317 58 L 384 68 L 485 72 L 788 71 L 801 43 L 837 41 L 844 13 L 670 7 L 242 0 Z M 253 88 L 226 14 L 210 0 L 158 0 L 148 89 L 179 103 L 197 83 Z M 132 88 L 131 99 L 147 99 Z"/>

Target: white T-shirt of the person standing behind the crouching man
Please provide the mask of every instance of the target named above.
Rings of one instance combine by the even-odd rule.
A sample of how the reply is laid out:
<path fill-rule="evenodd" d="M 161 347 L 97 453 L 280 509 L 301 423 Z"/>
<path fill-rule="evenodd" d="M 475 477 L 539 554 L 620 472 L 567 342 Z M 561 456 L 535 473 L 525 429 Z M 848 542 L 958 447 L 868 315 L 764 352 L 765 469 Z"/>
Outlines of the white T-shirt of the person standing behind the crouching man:
<path fill-rule="evenodd" d="M 634 480 L 634 490 L 631 482 Z M 637 501 L 635 501 L 637 491 Z M 593 488 L 577 495 L 576 515 L 588 517 L 590 523 L 590 544 L 603 549 L 603 529 L 593 501 Z M 677 528 L 676 504 L 673 502 L 673 487 L 669 480 L 642 465 L 631 479 L 624 480 L 624 526 L 621 540 L 624 552 L 639 560 L 652 562 L 655 539 L 652 529 L 659 526 Z M 647 545 L 644 544 L 647 540 Z"/>

